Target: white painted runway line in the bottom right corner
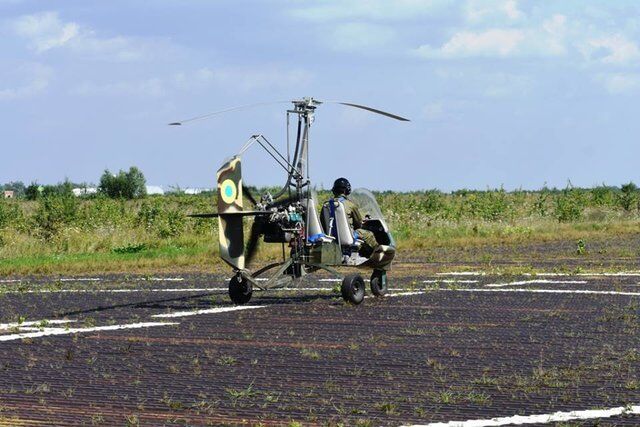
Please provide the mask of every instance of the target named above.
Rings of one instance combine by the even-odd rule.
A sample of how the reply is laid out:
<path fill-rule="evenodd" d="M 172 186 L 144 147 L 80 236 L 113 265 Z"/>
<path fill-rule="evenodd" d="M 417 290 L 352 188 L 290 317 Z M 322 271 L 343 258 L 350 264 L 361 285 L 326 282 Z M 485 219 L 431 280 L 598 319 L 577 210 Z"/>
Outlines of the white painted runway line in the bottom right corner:
<path fill-rule="evenodd" d="M 640 406 L 619 406 L 609 409 L 588 409 L 585 411 L 554 412 L 540 415 L 514 415 L 512 417 L 498 417 L 485 420 L 449 421 L 446 423 L 414 424 L 412 427 L 492 427 L 510 424 L 548 424 L 572 420 L 593 420 L 610 418 L 620 415 L 638 415 Z"/>

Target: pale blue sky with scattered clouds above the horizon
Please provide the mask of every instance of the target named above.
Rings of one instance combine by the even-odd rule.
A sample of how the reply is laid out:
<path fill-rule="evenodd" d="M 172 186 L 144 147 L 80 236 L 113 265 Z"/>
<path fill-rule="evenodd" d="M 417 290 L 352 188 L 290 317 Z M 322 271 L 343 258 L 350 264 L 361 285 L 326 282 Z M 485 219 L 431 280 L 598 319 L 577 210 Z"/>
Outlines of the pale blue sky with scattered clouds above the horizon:
<path fill-rule="evenodd" d="M 213 187 L 304 96 L 312 179 L 376 190 L 640 182 L 637 0 L 0 0 L 0 182 Z M 282 170 L 254 147 L 253 185 Z"/>

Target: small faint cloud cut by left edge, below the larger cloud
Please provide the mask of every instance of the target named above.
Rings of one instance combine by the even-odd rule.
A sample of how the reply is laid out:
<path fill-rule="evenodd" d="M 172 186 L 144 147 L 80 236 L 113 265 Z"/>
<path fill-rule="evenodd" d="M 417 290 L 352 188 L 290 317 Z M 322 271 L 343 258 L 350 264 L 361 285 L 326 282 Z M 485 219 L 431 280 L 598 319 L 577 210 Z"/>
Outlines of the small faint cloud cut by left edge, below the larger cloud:
<path fill-rule="evenodd" d="M 0 72 L 2 85 L 12 80 L 18 81 L 13 87 L 0 86 L 0 101 L 30 98 L 42 93 L 49 86 L 52 76 L 51 68 L 42 64 L 26 64 L 8 72 Z"/>

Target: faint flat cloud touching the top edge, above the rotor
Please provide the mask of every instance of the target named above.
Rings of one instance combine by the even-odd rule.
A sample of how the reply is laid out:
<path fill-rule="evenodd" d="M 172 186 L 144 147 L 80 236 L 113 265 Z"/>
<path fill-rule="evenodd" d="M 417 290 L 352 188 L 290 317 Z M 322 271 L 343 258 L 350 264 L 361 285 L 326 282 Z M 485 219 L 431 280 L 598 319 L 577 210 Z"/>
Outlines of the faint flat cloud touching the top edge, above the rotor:
<path fill-rule="evenodd" d="M 309 4 L 312 4 L 309 6 Z M 314 22 L 340 20 L 398 21 L 434 15 L 453 0 L 328 0 L 293 9 L 296 18 Z"/>

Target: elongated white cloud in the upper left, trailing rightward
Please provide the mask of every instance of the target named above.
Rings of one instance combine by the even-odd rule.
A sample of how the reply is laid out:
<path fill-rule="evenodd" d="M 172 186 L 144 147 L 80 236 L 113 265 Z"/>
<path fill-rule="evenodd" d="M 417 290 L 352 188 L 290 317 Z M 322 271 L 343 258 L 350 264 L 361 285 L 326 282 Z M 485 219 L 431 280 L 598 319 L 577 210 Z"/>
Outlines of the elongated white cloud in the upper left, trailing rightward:
<path fill-rule="evenodd" d="M 62 21 L 57 12 L 21 16 L 12 27 L 18 36 L 29 40 L 30 47 L 37 53 L 68 49 L 93 59 L 125 62 L 155 57 L 157 52 L 163 52 L 164 56 L 172 52 L 171 46 L 158 40 L 99 37 L 90 28 Z"/>

